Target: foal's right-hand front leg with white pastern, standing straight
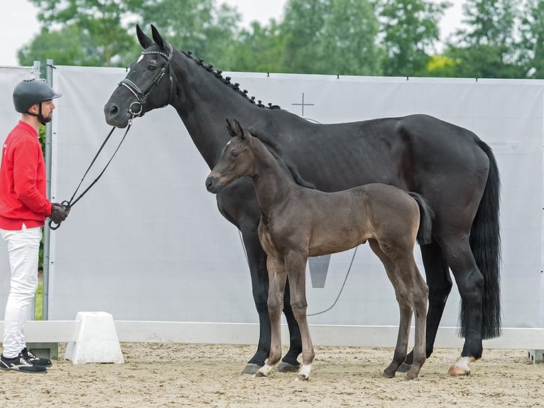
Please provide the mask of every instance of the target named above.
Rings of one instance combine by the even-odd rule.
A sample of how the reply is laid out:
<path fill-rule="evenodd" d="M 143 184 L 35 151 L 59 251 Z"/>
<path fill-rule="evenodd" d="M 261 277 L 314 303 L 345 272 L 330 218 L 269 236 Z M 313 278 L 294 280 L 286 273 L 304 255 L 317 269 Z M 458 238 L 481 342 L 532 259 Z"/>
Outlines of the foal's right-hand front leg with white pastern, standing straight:
<path fill-rule="evenodd" d="M 308 318 L 306 317 L 308 308 L 308 301 L 306 301 L 306 262 L 308 262 L 308 254 L 290 252 L 285 256 L 285 268 L 289 277 L 291 294 L 291 308 L 293 308 L 293 314 L 297 319 L 303 343 L 303 366 L 298 371 L 297 380 L 308 380 L 315 357 L 312 338 L 310 338 L 310 328 L 308 328 Z"/>

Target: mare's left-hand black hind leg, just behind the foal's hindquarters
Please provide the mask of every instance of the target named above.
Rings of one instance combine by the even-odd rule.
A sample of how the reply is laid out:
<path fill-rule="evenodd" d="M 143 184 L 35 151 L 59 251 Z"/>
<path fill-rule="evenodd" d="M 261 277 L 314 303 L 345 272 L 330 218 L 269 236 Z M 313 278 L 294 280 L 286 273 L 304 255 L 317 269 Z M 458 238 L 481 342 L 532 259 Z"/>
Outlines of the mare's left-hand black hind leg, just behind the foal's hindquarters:
<path fill-rule="evenodd" d="M 433 353 L 436 333 L 446 306 L 447 297 L 452 290 L 450 269 L 442 254 L 442 248 L 433 240 L 429 245 L 421 245 L 421 256 L 425 267 L 425 278 L 429 287 L 429 307 L 427 312 L 427 335 L 425 336 L 425 354 L 429 358 Z M 406 372 L 413 363 L 413 350 L 408 353 L 406 363 L 398 370 Z"/>

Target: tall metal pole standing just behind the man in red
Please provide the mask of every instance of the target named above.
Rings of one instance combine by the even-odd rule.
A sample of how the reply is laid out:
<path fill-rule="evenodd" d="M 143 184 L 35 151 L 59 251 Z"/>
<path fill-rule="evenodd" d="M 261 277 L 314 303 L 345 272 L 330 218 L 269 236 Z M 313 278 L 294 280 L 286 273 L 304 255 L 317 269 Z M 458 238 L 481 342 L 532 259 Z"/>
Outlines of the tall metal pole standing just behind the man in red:
<path fill-rule="evenodd" d="M 45 61 L 45 80 L 53 87 L 53 60 Z M 47 196 L 51 199 L 51 144 L 53 129 L 51 122 L 45 125 L 45 174 Z M 50 235 L 48 227 L 43 228 L 43 314 L 42 319 L 49 318 L 49 265 L 50 265 Z"/>

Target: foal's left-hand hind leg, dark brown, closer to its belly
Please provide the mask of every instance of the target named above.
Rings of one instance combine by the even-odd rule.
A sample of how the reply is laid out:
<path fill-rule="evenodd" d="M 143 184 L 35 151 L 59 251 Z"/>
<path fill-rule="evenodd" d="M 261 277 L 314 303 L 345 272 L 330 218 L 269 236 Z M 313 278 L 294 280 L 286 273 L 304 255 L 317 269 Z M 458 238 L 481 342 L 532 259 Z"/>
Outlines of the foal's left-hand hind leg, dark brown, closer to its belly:
<path fill-rule="evenodd" d="M 369 240 L 369 245 L 372 251 L 379 257 L 381 263 L 386 269 L 387 276 L 393 284 L 395 289 L 395 296 L 398 302 L 398 308 L 400 310 L 400 323 L 398 325 L 398 336 L 397 343 L 395 346 L 395 352 L 393 353 L 393 360 L 391 364 L 383 370 L 384 377 L 395 377 L 395 373 L 398 370 L 398 367 L 406 360 L 406 353 L 408 351 L 408 333 L 410 330 L 410 320 L 412 317 L 412 308 L 410 305 L 410 300 L 408 298 L 409 294 L 406 291 L 406 287 L 403 282 L 399 279 L 398 274 L 402 273 L 398 270 L 398 265 L 393 263 L 390 257 L 383 252 L 380 245 L 376 240 Z"/>

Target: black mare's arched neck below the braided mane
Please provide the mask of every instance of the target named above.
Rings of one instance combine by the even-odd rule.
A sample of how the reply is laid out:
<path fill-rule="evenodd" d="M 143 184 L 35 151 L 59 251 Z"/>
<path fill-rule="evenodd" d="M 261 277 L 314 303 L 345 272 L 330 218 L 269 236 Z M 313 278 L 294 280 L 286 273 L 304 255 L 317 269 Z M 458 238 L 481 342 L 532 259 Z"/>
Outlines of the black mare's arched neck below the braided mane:
<path fill-rule="evenodd" d="M 213 168 L 230 139 L 225 119 L 243 121 L 248 111 L 260 114 L 263 109 L 183 53 L 175 53 L 172 70 L 177 84 L 172 105 L 207 165 Z"/>

